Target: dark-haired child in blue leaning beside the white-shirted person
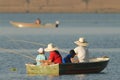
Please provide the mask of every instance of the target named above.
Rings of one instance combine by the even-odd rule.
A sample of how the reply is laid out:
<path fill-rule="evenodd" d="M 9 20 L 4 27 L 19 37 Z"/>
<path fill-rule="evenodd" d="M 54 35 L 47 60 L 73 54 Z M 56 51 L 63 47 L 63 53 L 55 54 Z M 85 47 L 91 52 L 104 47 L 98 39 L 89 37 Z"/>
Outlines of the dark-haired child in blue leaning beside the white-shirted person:
<path fill-rule="evenodd" d="M 77 63 L 78 61 L 74 59 L 75 55 L 76 55 L 76 53 L 74 52 L 74 50 L 73 49 L 70 50 L 69 54 L 67 54 L 63 58 L 62 62 L 63 63 Z"/>

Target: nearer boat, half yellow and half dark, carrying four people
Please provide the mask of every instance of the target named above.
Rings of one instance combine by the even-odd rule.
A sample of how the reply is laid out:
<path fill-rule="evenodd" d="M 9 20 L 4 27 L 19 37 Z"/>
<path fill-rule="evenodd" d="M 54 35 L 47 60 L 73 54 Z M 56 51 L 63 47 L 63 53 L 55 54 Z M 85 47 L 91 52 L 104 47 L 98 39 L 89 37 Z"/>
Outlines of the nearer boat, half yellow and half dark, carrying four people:
<path fill-rule="evenodd" d="M 106 68 L 109 57 L 98 57 L 83 63 L 64 63 L 53 65 L 33 65 L 26 64 L 28 75 L 70 75 L 70 74 L 89 74 L 100 73 Z"/>

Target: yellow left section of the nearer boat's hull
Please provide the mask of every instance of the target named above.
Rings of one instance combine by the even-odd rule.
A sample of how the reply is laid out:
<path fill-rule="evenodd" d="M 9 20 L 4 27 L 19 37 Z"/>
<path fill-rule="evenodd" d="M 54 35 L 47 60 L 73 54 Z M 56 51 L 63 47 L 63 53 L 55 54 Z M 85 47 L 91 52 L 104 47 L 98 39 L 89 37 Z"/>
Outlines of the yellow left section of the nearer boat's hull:
<path fill-rule="evenodd" d="M 30 76 L 34 75 L 59 75 L 59 65 L 36 66 L 26 64 L 26 73 Z"/>

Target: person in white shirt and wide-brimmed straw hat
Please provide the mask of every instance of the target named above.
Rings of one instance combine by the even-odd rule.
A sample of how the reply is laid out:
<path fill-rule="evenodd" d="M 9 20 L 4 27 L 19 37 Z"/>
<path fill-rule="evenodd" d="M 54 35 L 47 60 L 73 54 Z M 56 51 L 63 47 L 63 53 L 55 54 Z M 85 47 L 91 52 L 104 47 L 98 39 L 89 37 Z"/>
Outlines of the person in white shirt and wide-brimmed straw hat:
<path fill-rule="evenodd" d="M 87 62 L 89 60 L 89 53 L 88 53 L 88 42 L 85 41 L 84 38 L 79 38 L 78 41 L 74 42 L 78 45 L 74 51 L 77 54 L 79 62 Z"/>

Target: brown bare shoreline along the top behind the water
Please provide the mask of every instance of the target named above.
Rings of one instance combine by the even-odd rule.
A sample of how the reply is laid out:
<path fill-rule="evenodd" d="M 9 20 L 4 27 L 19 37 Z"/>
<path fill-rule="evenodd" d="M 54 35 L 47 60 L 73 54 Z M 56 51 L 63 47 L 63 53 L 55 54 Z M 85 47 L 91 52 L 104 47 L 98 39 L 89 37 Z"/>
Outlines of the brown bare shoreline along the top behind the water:
<path fill-rule="evenodd" d="M 120 13 L 119 0 L 0 0 L 0 13 Z"/>

